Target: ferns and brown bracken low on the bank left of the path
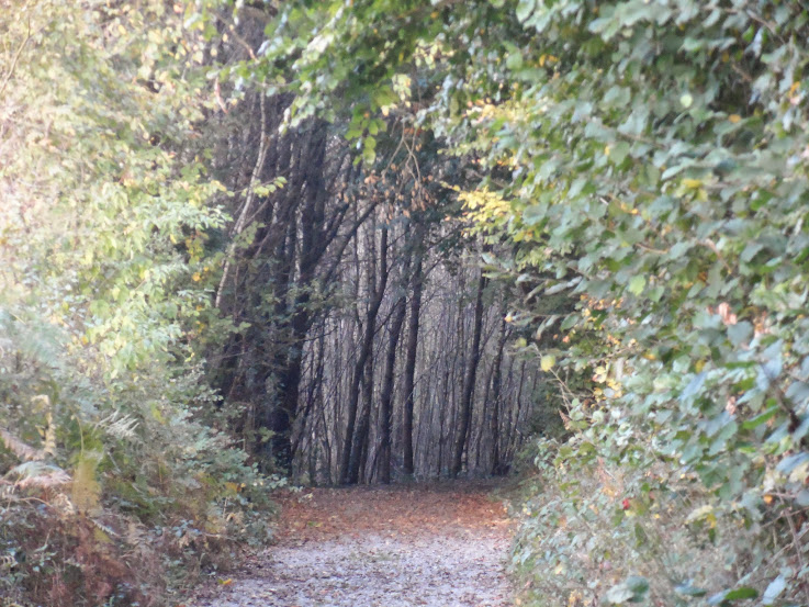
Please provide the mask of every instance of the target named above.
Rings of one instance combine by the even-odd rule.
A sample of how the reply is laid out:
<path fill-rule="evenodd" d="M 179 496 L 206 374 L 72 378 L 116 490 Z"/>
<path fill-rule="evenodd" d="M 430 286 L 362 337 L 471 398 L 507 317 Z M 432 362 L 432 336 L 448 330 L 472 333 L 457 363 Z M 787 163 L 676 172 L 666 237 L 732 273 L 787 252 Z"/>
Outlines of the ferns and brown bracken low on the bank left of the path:
<path fill-rule="evenodd" d="M 0 319 L 0 595 L 167 605 L 270 538 L 283 481 L 194 420 L 213 397 L 199 372 L 100 385 L 54 336 Z"/>

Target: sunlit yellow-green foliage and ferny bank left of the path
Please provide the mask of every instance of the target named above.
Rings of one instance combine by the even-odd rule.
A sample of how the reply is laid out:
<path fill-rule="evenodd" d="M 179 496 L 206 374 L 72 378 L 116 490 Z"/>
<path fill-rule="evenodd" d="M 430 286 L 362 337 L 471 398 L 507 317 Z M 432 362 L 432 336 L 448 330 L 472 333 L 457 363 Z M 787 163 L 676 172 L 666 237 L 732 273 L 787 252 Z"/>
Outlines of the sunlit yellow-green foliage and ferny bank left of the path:
<path fill-rule="evenodd" d="M 225 547 L 266 538 L 279 482 L 198 420 L 216 402 L 196 360 L 204 243 L 225 221 L 192 145 L 201 42 L 159 1 L 7 12 L 0 594 L 165 604 Z"/>

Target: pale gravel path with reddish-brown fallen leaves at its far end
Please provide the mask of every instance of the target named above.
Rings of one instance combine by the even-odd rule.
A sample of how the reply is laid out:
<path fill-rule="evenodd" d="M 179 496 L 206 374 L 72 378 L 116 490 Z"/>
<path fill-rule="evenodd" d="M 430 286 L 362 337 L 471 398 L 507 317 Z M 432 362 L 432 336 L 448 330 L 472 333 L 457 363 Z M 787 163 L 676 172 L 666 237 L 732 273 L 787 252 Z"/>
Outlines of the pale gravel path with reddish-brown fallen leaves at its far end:
<path fill-rule="evenodd" d="M 513 525 L 490 482 L 280 496 L 278 543 L 195 607 L 505 607 Z"/>

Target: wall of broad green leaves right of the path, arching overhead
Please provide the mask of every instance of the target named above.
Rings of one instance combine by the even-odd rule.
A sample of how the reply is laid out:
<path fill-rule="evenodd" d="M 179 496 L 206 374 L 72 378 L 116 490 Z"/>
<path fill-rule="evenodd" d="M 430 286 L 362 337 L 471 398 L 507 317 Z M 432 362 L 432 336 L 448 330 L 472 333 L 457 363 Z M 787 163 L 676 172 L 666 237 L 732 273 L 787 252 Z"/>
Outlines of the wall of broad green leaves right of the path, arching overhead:
<path fill-rule="evenodd" d="M 294 115 L 333 116 L 347 93 L 366 121 L 352 137 L 373 137 L 374 95 L 429 56 L 440 83 L 420 120 L 481 175 L 461 198 L 491 243 L 513 244 L 495 261 L 530 277 L 535 301 L 575 302 L 537 321 L 559 336 L 537 339 L 540 364 L 592 376 L 562 387 L 574 436 L 542 469 L 518 553 L 539 600 L 566 602 L 568 584 L 615 604 L 807 603 L 805 8 L 366 0 L 284 14 L 297 38 L 266 56 L 289 59 Z M 623 493 L 599 494 L 599 469 Z"/>

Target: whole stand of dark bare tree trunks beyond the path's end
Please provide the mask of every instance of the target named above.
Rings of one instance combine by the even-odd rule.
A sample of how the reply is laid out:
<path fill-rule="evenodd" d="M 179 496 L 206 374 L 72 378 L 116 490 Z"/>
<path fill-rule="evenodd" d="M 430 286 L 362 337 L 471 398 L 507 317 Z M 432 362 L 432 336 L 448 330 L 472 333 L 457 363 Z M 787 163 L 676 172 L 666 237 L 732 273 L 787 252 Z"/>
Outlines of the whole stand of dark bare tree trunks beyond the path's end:
<path fill-rule="evenodd" d="M 238 329 L 207 357 L 231 429 L 311 482 L 505 472 L 538 373 L 506 347 L 505 286 L 464 252 L 451 196 L 422 179 L 435 155 L 392 120 L 400 145 L 362 166 L 321 120 L 282 128 L 290 101 L 254 92 L 211 116 L 237 192 L 215 297 Z"/>

